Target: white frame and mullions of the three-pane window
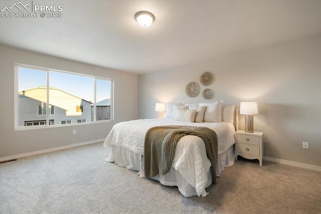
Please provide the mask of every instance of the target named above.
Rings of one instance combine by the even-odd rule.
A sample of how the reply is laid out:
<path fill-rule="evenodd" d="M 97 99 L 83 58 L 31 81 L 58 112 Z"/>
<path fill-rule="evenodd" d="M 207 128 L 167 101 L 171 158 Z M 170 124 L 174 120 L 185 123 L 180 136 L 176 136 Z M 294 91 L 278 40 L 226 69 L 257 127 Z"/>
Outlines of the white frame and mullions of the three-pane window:
<path fill-rule="evenodd" d="M 37 71 L 43 71 L 46 72 L 46 78 L 47 78 L 47 102 L 46 102 L 46 113 L 49 112 L 49 73 L 50 71 L 53 72 L 59 72 L 59 73 L 66 73 L 66 74 L 73 74 L 73 75 L 80 75 L 80 76 L 87 76 L 87 77 L 92 77 L 94 79 L 94 100 L 93 100 L 93 121 L 88 121 L 86 123 L 71 123 L 71 124 L 57 124 L 55 123 L 54 125 L 51 125 L 52 122 L 50 120 L 50 115 L 52 114 L 46 114 L 46 124 L 45 125 L 39 125 L 39 126 L 19 126 L 19 68 L 26 68 L 26 69 L 34 69 Z M 110 81 L 110 119 L 109 120 L 96 120 L 97 114 L 96 114 L 96 81 L 97 79 L 99 80 L 106 80 Z M 49 86 L 49 87 L 48 87 Z M 63 71 L 63 70 L 57 70 L 57 69 L 51 69 L 51 68 L 44 68 L 44 67 L 38 67 L 38 66 L 33 66 L 33 65 L 25 65 L 25 64 L 20 64 L 20 63 L 15 63 L 15 130 L 26 130 L 26 129 L 43 129 L 43 128 L 52 128 L 52 127 L 61 127 L 61 126 L 79 126 L 79 125 L 86 125 L 86 124 L 93 124 L 93 123 L 109 123 L 114 121 L 114 80 L 111 78 L 106 78 L 106 77 L 101 77 L 101 76 L 94 76 L 94 75 L 88 75 L 88 74 L 83 74 L 83 73 L 76 73 L 76 72 L 70 72 L 70 71 Z M 52 105 L 54 106 L 54 105 Z M 80 105 L 83 106 L 83 105 Z M 38 105 L 37 105 L 37 115 L 38 115 Z M 54 106 L 55 108 L 55 106 Z M 83 106 L 83 111 L 84 111 L 84 106 Z M 54 114 L 56 110 L 54 109 Z M 50 112 L 51 113 L 51 112 Z M 54 115 L 53 114 L 53 115 Z M 68 119 L 69 120 L 69 119 Z M 76 122 L 79 119 L 76 119 Z M 35 120 L 36 121 L 36 120 Z M 66 121 L 66 120 L 60 120 L 60 121 Z"/>

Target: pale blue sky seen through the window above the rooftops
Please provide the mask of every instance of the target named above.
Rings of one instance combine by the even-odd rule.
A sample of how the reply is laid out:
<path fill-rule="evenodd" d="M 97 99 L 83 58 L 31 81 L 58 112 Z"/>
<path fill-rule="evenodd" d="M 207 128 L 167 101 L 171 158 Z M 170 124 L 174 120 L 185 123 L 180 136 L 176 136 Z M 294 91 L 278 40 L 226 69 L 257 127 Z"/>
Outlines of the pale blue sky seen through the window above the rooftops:
<path fill-rule="evenodd" d="M 46 86 L 47 72 L 20 67 L 18 81 L 19 91 Z M 110 98 L 110 80 L 96 79 L 96 85 L 97 102 Z M 50 71 L 49 86 L 59 88 L 87 101 L 94 101 L 94 77 Z"/>

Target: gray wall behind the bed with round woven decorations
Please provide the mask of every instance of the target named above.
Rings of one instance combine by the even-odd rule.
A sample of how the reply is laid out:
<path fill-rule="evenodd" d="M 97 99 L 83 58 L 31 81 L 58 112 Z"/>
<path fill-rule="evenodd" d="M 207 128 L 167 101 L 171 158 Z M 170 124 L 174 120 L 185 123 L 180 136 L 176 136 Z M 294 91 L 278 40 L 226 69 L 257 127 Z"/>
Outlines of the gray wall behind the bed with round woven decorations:
<path fill-rule="evenodd" d="M 139 75 L 138 118 L 155 118 L 156 102 L 206 101 L 185 94 L 205 71 L 215 75 L 213 100 L 238 108 L 257 101 L 254 130 L 264 132 L 264 156 L 321 166 L 321 34 Z"/>

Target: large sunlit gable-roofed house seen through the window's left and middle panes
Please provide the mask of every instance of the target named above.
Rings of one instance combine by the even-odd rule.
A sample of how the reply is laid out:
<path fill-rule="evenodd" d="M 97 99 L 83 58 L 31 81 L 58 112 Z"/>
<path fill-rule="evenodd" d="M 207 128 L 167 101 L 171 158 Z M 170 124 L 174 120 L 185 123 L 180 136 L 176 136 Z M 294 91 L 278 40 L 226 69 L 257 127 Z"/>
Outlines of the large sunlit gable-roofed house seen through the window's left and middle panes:
<path fill-rule="evenodd" d="M 46 124 L 46 86 L 19 92 L 19 126 Z M 91 102 L 58 88 L 49 88 L 49 125 L 91 122 Z"/>

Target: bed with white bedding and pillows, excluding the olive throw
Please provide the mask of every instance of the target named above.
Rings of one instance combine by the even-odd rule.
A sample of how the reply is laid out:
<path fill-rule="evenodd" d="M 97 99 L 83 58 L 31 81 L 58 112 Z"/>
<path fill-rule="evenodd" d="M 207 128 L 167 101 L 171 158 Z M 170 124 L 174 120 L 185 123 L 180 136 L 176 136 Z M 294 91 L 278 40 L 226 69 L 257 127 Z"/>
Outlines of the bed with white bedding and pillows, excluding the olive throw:
<path fill-rule="evenodd" d="M 204 110 L 204 111 L 203 111 Z M 206 114 L 207 113 L 207 114 Z M 222 101 L 207 103 L 167 103 L 163 119 L 144 119 L 121 122 L 112 128 L 104 141 L 106 161 L 144 174 L 144 140 L 147 131 L 158 126 L 207 127 L 214 130 L 218 139 L 216 176 L 235 160 L 233 145 L 238 129 L 238 110 L 234 105 L 222 108 Z M 169 172 L 151 179 L 163 185 L 178 186 L 185 196 L 206 196 L 206 188 L 212 184 L 211 162 L 204 141 L 194 135 L 182 137 L 175 150 Z"/>

